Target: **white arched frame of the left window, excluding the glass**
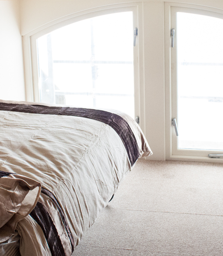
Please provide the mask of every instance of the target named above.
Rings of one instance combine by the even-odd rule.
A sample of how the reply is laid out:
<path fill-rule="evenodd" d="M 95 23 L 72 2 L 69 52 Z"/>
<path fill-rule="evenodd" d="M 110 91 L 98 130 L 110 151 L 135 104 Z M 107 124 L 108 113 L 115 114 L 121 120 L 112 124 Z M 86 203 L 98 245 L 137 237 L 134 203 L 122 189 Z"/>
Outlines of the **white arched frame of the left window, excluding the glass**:
<path fill-rule="evenodd" d="M 113 4 L 104 7 L 97 7 L 90 10 L 84 10 L 78 13 L 62 17 L 51 23 L 45 24 L 38 29 L 23 36 L 24 66 L 25 66 L 25 84 L 26 101 L 39 102 L 38 87 L 38 62 L 36 39 L 47 33 L 52 32 L 62 26 L 74 22 L 89 19 L 95 16 L 101 16 L 111 13 L 133 12 L 133 30 L 138 28 L 136 46 L 133 48 L 134 57 L 134 98 L 135 98 L 135 116 L 139 116 L 140 127 L 145 132 L 145 99 L 144 99 L 144 49 L 143 49 L 143 20 L 142 3 L 124 3 Z M 140 15 L 139 15 L 140 13 Z M 140 18 L 139 18 L 140 17 Z M 114 35 L 115 36 L 115 35 Z"/>

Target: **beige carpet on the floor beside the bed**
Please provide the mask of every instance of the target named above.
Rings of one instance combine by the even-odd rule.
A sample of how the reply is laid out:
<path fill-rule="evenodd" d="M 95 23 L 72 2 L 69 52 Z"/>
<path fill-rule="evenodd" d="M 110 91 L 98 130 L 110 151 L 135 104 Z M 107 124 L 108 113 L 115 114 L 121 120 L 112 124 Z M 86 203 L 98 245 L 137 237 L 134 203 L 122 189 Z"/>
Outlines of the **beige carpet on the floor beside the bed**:
<path fill-rule="evenodd" d="M 223 164 L 139 160 L 72 256 L 223 256 Z"/>

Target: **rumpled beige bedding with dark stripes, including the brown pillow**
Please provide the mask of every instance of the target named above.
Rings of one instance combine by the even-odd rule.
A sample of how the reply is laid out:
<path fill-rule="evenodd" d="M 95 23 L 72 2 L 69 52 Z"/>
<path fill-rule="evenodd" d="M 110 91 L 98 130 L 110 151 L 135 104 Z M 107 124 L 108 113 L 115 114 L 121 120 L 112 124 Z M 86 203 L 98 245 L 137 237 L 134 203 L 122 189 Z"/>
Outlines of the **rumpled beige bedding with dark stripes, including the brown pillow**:
<path fill-rule="evenodd" d="M 71 256 L 150 154 L 124 113 L 0 101 L 0 255 Z"/>

